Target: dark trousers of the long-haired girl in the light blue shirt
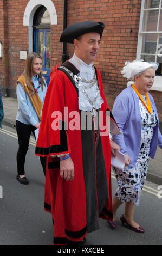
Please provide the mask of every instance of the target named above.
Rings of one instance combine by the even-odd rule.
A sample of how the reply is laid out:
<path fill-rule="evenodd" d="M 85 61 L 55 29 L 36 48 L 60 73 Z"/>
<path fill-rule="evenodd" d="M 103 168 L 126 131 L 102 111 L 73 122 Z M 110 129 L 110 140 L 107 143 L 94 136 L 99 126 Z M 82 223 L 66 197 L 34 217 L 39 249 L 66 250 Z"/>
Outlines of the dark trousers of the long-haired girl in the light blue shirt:
<path fill-rule="evenodd" d="M 35 137 L 34 130 L 36 128 L 33 125 L 23 124 L 16 120 L 16 131 L 18 136 L 18 151 L 17 151 L 17 173 L 18 175 L 24 175 L 25 156 L 29 148 L 29 139 L 31 132 Z M 46 176 L 46 156 L 40 156 L 41 164 L 43 167 L 44 175 Z"/>

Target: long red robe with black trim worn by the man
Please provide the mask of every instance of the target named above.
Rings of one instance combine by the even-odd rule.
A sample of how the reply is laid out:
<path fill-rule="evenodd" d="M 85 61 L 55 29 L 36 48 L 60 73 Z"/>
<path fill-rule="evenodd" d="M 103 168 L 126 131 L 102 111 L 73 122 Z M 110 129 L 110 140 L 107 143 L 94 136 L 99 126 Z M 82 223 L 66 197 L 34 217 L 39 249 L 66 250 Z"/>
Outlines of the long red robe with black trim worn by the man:
<path fill-rule="evenodd" d="M 70 62 L 64 63 L 64 66 L 73 74 L 79 72 Z M 36 155 L 47 156 L 44 209 L 52 214 L 54 244 L 63 245 L 66 243 L 65 237 L 72 241 L 81 241 L 87 232 L 98 229 L 98 217 L 112 220 L 111 149 L 109 135 L 100 136 L 100 131 L 94 129 L 92 115 L 92 130 L 82 131 L 81 123 L 77 124 L 79 129 L 66 127 L 65 130 L 65 126 L 72 125 L 76 115 L 69 115 L 68 120 L 65 120 L 64 107 L 68 107 L 68 113 L 77 113 L 79 117 L 81 111 L 78 107 L 78 90 L 75 83 L 66 71 L 57 68 L 58 66 L 50 75 Z M 100 111 L 104 113 L 106 124 L 106 111 L 109 111 L 109 108 L 100 72 L 96 68 L 95 71 L 100 95 L 104 100 Z M 55 111 L 59 111 L 58 116 Z M 112 114 L 110 118 L 118 132 Z M 59 127 L 63 126 L 63 130 L 54 130 L 56 120 L 60 120 Z M 60 177 L 59 158 L 50 157 L 66 153 L 70 153 L 74 163 L 75 176 L 72 181 Z"/>

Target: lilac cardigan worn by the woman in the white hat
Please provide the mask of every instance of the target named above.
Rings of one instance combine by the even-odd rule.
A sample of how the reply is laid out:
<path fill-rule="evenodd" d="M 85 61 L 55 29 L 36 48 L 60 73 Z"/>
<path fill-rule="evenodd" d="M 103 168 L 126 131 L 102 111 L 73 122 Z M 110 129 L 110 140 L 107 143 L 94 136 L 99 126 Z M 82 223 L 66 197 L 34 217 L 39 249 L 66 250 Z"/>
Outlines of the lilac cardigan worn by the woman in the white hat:
<path fill-rule="evenodd" d="M 151 106 L 158 116 L 153 97 L 149 93 Z M 113 140 L 120 146 L 120 151 L 128 154 L 130 166 L 134 167 L 137 162 L 140 139 L 141 139 L 141 114 L 139 99 L 134 94 L 133 88 L 129 86 L 124 89 L 115 99 L 112 114 L 119 126 L 121 135 L 113 135 Z M 159 119 L 158 119 L 159 124 Z M 150 157 L 154 158 L 157 145 L 162 148 L 162 136 L 158 124 L 153 127 L 153 137 L 150 143 Z"/>

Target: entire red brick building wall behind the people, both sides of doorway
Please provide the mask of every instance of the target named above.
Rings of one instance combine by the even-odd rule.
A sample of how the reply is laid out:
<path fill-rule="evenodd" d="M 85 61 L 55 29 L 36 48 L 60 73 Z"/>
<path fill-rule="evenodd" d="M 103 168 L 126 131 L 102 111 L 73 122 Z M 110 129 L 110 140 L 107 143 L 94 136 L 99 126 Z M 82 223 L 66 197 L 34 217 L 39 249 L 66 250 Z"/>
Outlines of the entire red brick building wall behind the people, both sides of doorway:
<path fill-rule="evenodd" d="M 27 0 L 3 0 L 0 2 L 0 35 L 5 45 L 5 56 L 0 59 L 0 86 L 15 92 L 18 76 L 24 69 L 20 51 L 29 49 L 28 27 L 23 26 Z M 51 26 L 51 69 L 62 62 L 62 44 L 59 42 L 63 27 L 63 1 L 53 0 L 57 13 L 57 25 Z M 115 97 L 126 88 L 127 80 L 120 70 L 126 60 L 134 60 L 140 18 L 140 0 L 68 0 L 67 25 L 74 22 L 95 20 L 105 23 L 100 52 L 95 65 L 102 75 L 103 87 L 110 108 Z M 7 19 L 8 17 L 8 19 Z M 7 53 L 8 51 L 8 53 Z M 74 47 L 67 44 L 67 53 L 72 56 Z M 162 92 L 151 91 L 162 121 Z"/>

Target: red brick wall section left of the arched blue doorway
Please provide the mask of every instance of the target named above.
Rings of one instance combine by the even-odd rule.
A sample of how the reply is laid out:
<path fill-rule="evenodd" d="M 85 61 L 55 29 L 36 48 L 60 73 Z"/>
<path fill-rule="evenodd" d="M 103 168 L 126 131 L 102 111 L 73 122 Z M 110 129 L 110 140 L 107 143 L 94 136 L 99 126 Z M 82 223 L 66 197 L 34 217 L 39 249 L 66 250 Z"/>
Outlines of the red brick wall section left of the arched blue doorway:
<path fill-rule="evenodd" d="M 15 92 L 17 77 L 24 69 L 24 61 L 20 60 L 20 50 L 28 50 L 28 28 L 23 26 L 23 13 L 28 1 L 2 2 L 4 33 L 3 58 L 0 59 L 0 86 L 3 94 L 9 95 L 10 89 Z M 16 96 L 16 93 L 13 96 Z"/>

